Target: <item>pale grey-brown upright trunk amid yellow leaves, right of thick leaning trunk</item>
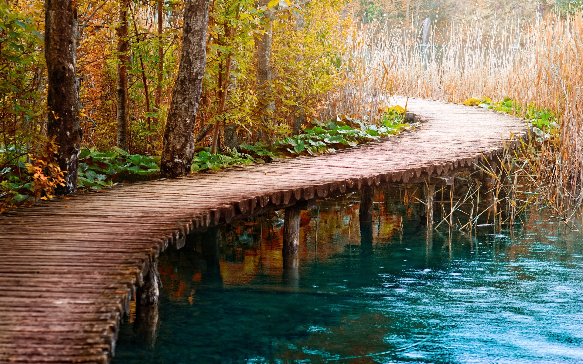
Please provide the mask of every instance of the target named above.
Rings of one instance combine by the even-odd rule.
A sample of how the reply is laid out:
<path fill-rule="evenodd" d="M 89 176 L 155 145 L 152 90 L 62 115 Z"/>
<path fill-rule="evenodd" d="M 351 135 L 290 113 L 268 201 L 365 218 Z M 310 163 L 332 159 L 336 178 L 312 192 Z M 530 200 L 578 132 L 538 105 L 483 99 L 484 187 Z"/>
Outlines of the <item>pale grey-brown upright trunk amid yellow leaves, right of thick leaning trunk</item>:
<path fill-rule="evenodd" d="M 269 0 L 261 0 L 259 7 L 268 6 Z M 257 96 L 261 107 L 261 123 L 269 125 L 275 112 L 275 103 L 271 98 L 271 87 L 268 81 L 271 80 L 271 36 L 273 34 L 273 10 L 265 10 L 264 16 L 267 22 L 264 26 L 265 34 L 261 34 L 257 43 Z M 267 84 L 266 84 L 267 83 Z M 258 139 L 265 141 L 264 132 L 258 129 Z"/>

